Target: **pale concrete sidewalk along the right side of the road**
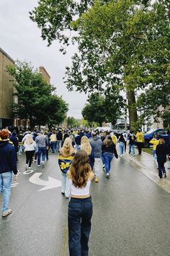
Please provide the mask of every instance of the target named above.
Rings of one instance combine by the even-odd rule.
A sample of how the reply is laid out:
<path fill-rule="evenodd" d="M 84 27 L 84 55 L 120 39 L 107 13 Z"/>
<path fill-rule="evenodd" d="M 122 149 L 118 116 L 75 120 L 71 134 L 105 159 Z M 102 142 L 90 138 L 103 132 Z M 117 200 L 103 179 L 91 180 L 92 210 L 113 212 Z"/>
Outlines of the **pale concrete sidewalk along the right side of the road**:
<path fill-rule="evenodd" d="M 117 148 L 119 152 L 119 148 Z M 149 153 L 142 152 L 142 155 L 138 155 L 138 149 L 135 148 L 136 156 L 129 155 L 129 148 L 127 147 L 126 153 L 124 153 L 124 158 L 126 161 L 130 162 L 133 166 L 138 165 L 140 171 L 148 176 L 153 182 L 155 182 L 162 189 L 166 190 L 170 194 L 170 171 L 167 169 L 168 163 L 166 162 L 166 179 L 159 179 L 158 170 L 156 169 L 156 163 L 153 160 L 153 156 Z M 120 157 L 120 155 L 119 155 Z"/>

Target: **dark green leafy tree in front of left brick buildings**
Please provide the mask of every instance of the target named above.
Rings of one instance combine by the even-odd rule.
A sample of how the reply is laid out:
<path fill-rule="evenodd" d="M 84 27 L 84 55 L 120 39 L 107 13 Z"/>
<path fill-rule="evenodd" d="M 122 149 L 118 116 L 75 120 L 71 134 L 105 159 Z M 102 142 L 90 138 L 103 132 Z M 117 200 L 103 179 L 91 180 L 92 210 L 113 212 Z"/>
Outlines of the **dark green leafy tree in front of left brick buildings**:
<path fill-rule="evenodd" d="M 7 68 L 14 78 L 14 95 L 17 103 L 12 104 L 14 117 L 29 119 L 30 127 L 35 124 L 59 124 L 68 111 L 68 104 L 61 97 L 52 95 L 55 88 L 42 78 L 26 61 L 17 61 Z"/>

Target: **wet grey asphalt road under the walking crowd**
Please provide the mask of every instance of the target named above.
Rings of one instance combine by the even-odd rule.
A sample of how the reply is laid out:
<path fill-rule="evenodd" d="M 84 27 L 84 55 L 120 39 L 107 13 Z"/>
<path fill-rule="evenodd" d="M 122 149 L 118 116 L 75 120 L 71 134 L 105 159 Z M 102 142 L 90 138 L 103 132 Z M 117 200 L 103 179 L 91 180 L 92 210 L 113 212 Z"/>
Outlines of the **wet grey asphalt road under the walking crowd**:
<path fill-rule="evenodd" d="M 125 154 L 112 162 L 110 179 L 101 170 L 99 184 L 92 182 L 90 256 L 170 255 L 170 195 L 158 184 L 154 164 L 148 154 Z M 30 174 L 22 155 L 18 168 L 12 214 L 0 218 L 0 255 L 68 256 L 68 200 L 58 187 L 57 155 L 50 154 L 44 168 L 33 163 Z"/>

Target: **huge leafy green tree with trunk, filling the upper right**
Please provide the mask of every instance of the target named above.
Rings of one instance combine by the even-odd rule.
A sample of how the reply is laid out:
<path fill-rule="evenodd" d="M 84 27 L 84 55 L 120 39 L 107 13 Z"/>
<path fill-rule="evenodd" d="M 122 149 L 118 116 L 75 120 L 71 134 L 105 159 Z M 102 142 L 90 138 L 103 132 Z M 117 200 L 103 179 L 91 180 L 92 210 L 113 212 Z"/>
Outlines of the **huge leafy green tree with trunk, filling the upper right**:
<path fill-rule="evenodd" d="M 63 32 L 77 31 L 79 54 L 73 56 L 71 69 L 67 67 L 68 89 L 91 93 L 119 86 L 127 93 L 134 129 L 139 124 L 138 89 L 152 85 L 164 90 L 169 85 L 169 9 L 166 0 L 42 0 L 30 17 L 49 44 L 59 39 L 68 45 Z M 75 15 L 79 18 L 73 21 Z"/>

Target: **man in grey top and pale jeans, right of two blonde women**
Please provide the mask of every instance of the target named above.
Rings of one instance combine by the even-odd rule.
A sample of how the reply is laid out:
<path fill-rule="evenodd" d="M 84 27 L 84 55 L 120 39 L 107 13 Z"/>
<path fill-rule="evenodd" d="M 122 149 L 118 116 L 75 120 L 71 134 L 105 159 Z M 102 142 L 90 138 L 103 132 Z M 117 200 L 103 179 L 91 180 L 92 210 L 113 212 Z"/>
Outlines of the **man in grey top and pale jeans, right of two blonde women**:
<path fill-rule="evenodd" d="M 99 170 L 102 168 L 102 140 L 99 139 L 96 132 L 92 132 L 90 145 L 94 153 L 94 181 L 99 182 Z"/>

